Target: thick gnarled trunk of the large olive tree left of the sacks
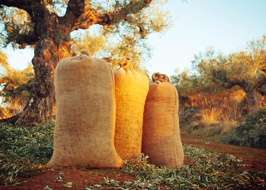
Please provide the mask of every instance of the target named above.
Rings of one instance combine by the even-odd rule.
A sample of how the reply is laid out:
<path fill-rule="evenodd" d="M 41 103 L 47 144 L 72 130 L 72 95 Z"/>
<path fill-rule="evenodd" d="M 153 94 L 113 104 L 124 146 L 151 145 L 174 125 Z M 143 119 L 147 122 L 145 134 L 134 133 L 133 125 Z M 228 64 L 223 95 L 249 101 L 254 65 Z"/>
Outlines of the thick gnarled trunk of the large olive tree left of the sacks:
<path fill-rule="evenodd" d="M 70 56 L 70 33 L 66 31 L 67 29 L 60 30 L 58 26 L 51 27 L 48 36 L 41 38 L 36 44 L 32 59 L 35 78 L 30 98 L 15 123 L 16 126 L 32 126 L 52 116 L 53 105 L 56 103 L 54 90 L 56 64 L 64 57 Z"/>

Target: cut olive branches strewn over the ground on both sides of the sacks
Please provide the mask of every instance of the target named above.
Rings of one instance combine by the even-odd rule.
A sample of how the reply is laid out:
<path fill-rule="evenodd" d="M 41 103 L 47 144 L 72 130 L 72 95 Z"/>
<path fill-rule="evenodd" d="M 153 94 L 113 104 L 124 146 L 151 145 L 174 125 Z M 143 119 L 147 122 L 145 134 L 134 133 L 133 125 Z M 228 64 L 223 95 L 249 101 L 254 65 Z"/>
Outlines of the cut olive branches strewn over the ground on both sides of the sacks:
<path fill-rule="evenodd" d="M 17 181 L 17 176 L 34 175 L 39 165 L 46 165 L 53 151 L 53 128 L 54 121 L 32 129 L 1 126 L 0 177 L 5 179 L 3 185 L 19 185 L 23 181 Z M 186 144 L 183 147 L 188 161 L 181 168 L 155 166 L 147 161 L 147 156 L 141 154 L 134 160 L 125 160 L 121 168 L 122 172 L 135 175 L 135 180 L 121 183 L 106 177 L 99 184 L 84 189 L 265 188 L 262 179 L 266 178 L 266 172 L 241 172 L 238 167 L 243 164 L 242 161 L 232 155 L 222 155 Z M 75 182 L 67 183 L 71 185 Z"/>

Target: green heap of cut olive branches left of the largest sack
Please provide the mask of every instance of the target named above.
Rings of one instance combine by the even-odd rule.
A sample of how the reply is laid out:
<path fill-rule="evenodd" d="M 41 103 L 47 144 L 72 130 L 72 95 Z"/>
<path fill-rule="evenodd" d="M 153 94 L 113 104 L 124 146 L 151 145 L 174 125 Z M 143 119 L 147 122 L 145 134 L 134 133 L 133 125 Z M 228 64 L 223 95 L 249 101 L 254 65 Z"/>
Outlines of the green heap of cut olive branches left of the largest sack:
<path fill-rule="evenodd" d="M 29 176 L 53 154 L 54 121 L 33 128 L 0 126 L 0 177 L 15 182 L 18 175 Z"/>

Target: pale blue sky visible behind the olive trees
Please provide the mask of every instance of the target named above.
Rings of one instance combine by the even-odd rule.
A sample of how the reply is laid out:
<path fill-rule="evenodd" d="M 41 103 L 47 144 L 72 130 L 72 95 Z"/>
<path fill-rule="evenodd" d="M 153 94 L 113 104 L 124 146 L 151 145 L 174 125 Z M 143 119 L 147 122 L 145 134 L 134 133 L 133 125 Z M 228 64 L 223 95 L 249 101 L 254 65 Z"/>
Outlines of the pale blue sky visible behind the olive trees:
<path fill-rule="evenodd" d="M 191 68 L 194 54 L 213 46 L 225 54 L 239 51 L 249 40 L 266 35 L 266 0 L 168 0 L 164 10 L 173 19 L 163 35 L 151 34 L 152 58 L 145 63 L 149 75 L 172 76 Z M 32 49 L 2 49 L 9 64 L 24 69 L 34 56 Z"/>

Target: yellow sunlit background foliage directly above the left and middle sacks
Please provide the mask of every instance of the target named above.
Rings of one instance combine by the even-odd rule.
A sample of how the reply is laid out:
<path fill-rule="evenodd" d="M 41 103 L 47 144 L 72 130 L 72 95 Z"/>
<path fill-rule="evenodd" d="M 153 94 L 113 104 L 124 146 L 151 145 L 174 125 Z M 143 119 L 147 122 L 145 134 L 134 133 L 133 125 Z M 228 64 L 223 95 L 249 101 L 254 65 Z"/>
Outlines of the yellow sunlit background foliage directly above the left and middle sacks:
<path fill-rule="evenodd" d="M 135 39 L 129 35 L 117 35 L 105 32 L 106 27 L 98 27 L 97 34 L 85 33 L 75 35 L 72 39 L 71 53 L 77 54 L 82 50 L 88 50 L 89 55 L 95 58 L 104 59 L 112 63 L 113 67 L 123 57 L 130 57 L 135 69 L 144 69 L 143 63 L 150 58 L 151 48 L 146 44 L 145 39 Z M 115 40 L 114 40 L 115 39 Z"/>

